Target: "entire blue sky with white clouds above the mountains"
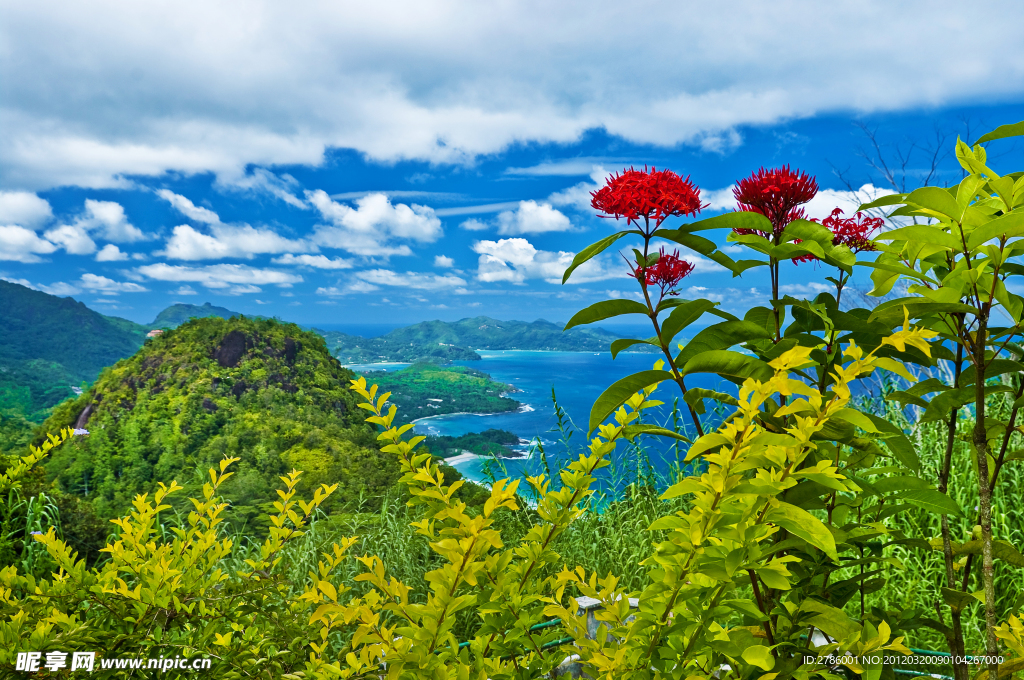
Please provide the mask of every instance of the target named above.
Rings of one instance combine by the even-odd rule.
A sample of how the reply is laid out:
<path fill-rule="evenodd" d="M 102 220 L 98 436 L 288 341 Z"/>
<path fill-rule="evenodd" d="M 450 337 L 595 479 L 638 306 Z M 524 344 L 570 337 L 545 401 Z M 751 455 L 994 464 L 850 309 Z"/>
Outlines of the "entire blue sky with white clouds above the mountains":
<path fill-rule="evenodd" d="M 3 11 L 0 278 L 142 323 L 206 301 L 322 325 L 564 321 L 635 288 L 615 253 L 558 283 L 616 226 L 588 207 L 608 172 L 689 175 L 712 215 L 788 163 L 823 217 L 893 189 L 865 129 L 913 187 L 939 142 L 932 183 L 955 182 L 957 134 L 1024 119 L 1020 22 L 970 31 L 946 3 Z M 1019 145 L 991 153 L 1021 167 Z M 765 292 L 693 261 L 688 297 Z"/>

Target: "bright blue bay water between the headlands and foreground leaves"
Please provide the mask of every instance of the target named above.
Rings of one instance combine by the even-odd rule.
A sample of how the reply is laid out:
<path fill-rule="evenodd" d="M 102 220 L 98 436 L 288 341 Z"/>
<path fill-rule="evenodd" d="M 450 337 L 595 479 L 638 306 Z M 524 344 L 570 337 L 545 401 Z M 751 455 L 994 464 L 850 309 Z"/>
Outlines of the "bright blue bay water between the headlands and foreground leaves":
<path fill-rule="evenodd" d="M 484 459 L 464 460 L 457 462 L 455 467 L 466 477 L 474 481 L 487 481 L 489 478 L 505 476 L 520 476 L 538 474 L 544 471 L 542 457 L 536 447 L 526 444 L 527 440 L 539 440 L 547 454 L 549 469 L 557 472 L 567 458 L 574 459 L 586 447 L 587 423 L 594 400 L 614 381 L 638 371 L 651 369 L 657 360 L 655 354 L 622 353 L 612 359 L 608 352 L 545 352 L 545 351 L 488 351 L 477 350 L 482 356 L 479 362 L 460 363 L 462 366 L 483 371 L 495 380 L 514 385 L 519 391 L 509 394 L 520 401 L 523 408 L 518 413 L 503 413 L 494 415 L 450 414 L 434 416 L 416 421 L 415 430 L 419 434 L 439 434 L 459 436 L 468 432 L 480 432 L 488 428 L 508 430 L 519 435 L 523 445 L 519 447 L 528 457 L 520 459 L 502 459 L 500 465 L 495 461 Z M 380 370 L 386 368 L 394 371 L 403 368 L 404 364 L 371 365 L 350 367 L 355 371 Z M 720 384 L 717 376 L 695 375 L 687 379 L 687 387 L 707 387 L 728 389 Z M 568 439 L 566 447 L 560 440 L 562 435 L 557 431 L 558 421 L 551 394 L 554 388 L 558 405 L 566 412 L 568 419 L 578 428 Z M 670 418 L 673 399 L 679 396 L 679 390 L 674 384 L 663 383 L 656 393 L 668 403 L 667 409 L 658 410 L 648 422 L 664 422 Z M 682 403 L 682 399 L 680 399 Z M 653 410 L 652 410 L 653 411 Z M 647 412 L 651 413 L 651 412 Z M 686 424 L 689 424 L 688 415 Z M 570 426 L 571 427 L 571 426 Z M 652 470 L 667 478 L 673 465 L 677 462 L 678 453 L 675 447 L 655 445 L 659 439 L 648 437 L 651 445 L 647 448 L 645 459 L 631 451 L 627 444 L 620 444 L 612 457 L 612 469 L 602 476 L 602 486 L 605 491 L 621 488 L 635 479 L 638 469 Z M 504 466 L 505 470 L 501 469 Z M 488 471 L 489 468 L 489 471 Z"/>

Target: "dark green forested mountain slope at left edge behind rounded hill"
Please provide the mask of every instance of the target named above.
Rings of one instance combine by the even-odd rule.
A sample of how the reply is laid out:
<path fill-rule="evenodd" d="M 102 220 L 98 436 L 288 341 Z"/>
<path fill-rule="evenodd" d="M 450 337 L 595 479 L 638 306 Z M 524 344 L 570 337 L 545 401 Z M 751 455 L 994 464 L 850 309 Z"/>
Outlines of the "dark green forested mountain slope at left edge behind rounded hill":
<path fill-rule="evenodd" d="M 0 281 L 0 413 L 40 420 L 145 340 L 147 327 Z"/>

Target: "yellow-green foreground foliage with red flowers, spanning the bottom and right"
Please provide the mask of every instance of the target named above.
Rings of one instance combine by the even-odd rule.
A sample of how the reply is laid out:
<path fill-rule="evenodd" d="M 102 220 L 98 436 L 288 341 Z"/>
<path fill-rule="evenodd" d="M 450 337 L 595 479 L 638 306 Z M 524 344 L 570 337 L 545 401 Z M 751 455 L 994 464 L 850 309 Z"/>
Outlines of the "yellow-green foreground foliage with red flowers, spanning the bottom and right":
<path fill-rule="evenodd" d="M 1021 134 L 1024 123 L 980 142 Z M 612 352 L 645 345 L 660 356 L 651 370 L 597 398 L 587 447 L 554 478 L 499 479 L 480 505 L 470 505 L 465 484 L 420 449 L 423 437 L 409 437 L 412 426 L 399 424 L 392 394 L 349 378 L 355 406 L 369 417 L 362 422 L 347 407 L 336 414 L 346 435 L 376 438 L 380 454 L 397 464 L 411 530 L 394 536 L 409 546 L 406 554 L 427 553 L 416 566 L 393 546 L 375 550 L 342 534 L 313 544 L 315 563 L 306 554 L 305 576 L 297 578 L 285 556 L 302 558 L 293 549 L 310 545 L 301 544 L 307 530 L 315 534 L 310 523 L 339 493 L 335 478 L 306 482 L 297 471 L 281 475 L 265 538 L 239 549 L 223 528 L 230 510 L 223 498 L 244 491 L 232 486 L 242 475 L 231 475 L 244 472 L 239 464 L 247 461 L 231 454 L 251 455 L 251 441 L 211 461 L 209 475 L 193 486 L 187 512 L 169 516 L 181 507 L 173 500 L 181 491 L 175 483 L 136 497 L 130 514 L 116 522 L 108 559 L 94 566 L 77 559 L 54 527 L 37 535 L 57 569 L 50 579 L 13 565 L 0 570 L 0 663 L 26 649 L 153 656 L 163 647 L 213 658 L 217 677 L 483 680 L 582 670 L 608 679 L 855 674 L 879 680 L 900 665 L 902 673 L 931 675 L 933 667 L 908 667 L 914 650 L 907 642 L 938 635 L 958 680 L 1009 677 L 1024 669 L 1022 603 L 1012 587 L 1020 583 L 1024 557 L 1011 542 L 1019 532 L 992 508 L 1024 449 L 1017 425 L 1024 406 L 1024 299 L 1013 292 L 1013 277 L 1024 272 L 1016 261 L 1024 252 L 1024 177 L 989 168 L 980 143 L 958 143 L 956 153 L 965 171 L 956 186 L 864 207 L 899 206 L 890 219 L 902 223 L 871 240 L 878 224 L 863 215 L 804 219 L 801 206 L 816 184 L 787 167 L 738 182 L 736 212 L 672 228 L 670 219 L 700 209 L 693 182 L 666 170 L 612 176 L 594 205 L 625 219 L 626 228 L 582 251 L 565 277 L 630 237 L 643 302 L 599 302 L 568 326 L 641 314 L 653 335 L 616 340 Z M 751 256 L 733 259 L 698 236 L 710 229 L 724 230 Z M 737 277 L 768 267 L 770 298 L 743 318 L 712 300 L 681 299 L 689 273 L 682 262 L 694 254 Z M 811 300 L 784 295 L 792 267 L 812 266 L 827 267 L 835 293 Z M 844 308 L 855 266 L 870 268 L 877 296 L 901 279 L 907 283 L 897 290 L 905 294 L 873 309 Z M 679 341 L 705 314 L 715 323 Z M 227 323 L 218 320 L 168 334 L 162 339 L 168 345 L 154 347 L 170 348 L 176 338 L 191 342 L 178 353 L 156 354 L 161 363 L 144 374 L 148 395 L 139 396 L 137 381 L 134 391 L 124 388 L 129 374 L 114 370 L 99 383 L 117 399 L 102 401 L 122 405 L 127 418 L 128 400 L 153 399 L 159 396 L 153 387 L 167 390 L 178 380 L 167 370 L 172 357 L 179 370 L 196 367 L 195 375 L 209 381 L 207 392 L 217 374 L 232 385 L 290 393 L 275 387 L 285 384 L 281 362 L 289 365 L 289 339 L 296 358 L 308 352 L 303 371 L 335 371 L 324 376 L 323 389 L 348 378 L 325 362 L 323 344 L 300 338 L 298 329 L 242 323 L 226 334 Z M 228 340 L 231 333 L 242 340 Z M 157 383 L 164 373 L 168 378 Z M 699 373 L 735 388 L 688 389 L 687 378 Z M 118 375 L 122 382 L 114 380 Z M 857 397 L 858 385 L 876 378 L 886 401 Z M 173 411 L 178 406 L 180 413 L 203 409 L 199 393 L 176 389 L 175 406 L 162 412 L 167 418 L 180 415 Z M 305 403 L 317 402 L 299 389 L 291 394 L 300 393 Z M 266 394 L 261 403 L 272 407 Z M 689 436 L 651 424 L 662 395 L 682 396 Z M 702 418 L 707 401 L 728 407 L 724 419 Z M 650 513 L 643 522 L 650 539 L 637 547 L 642 559 L 630 572 L 616 572 L 622 560 L 595 558 L 579 549 L 582 541 L 573 549 L 566 539 L 580 536 L 581 525 L 596 528 L 595 475 L 615 447 L 650 437 L 682 438 L 690 468 L 657 502 L 631 488 L 630 498 Z M 0 492 L 17 488 L 47 449 L 51 464 L 63 461 L 57 470 L 68 467 L 67 452 L 82 441 L 69 438 L 72 432 L 62 430 L 11 461 Z M 935 441 L 942 442 L 938 456 Z M 215 453 L 221 451 L 205 453 L 206 460 Z M 535 507 L 523 508 L 524 498 Z M 970 499 L 977 499 L 976 509 L 964 503 Z M 891 584 L 883 575 L 925 563 L 937 565 L 941 584 L 922 587 L 909 606 L 892 606 L 898 597 L 886 596 Z M 583 610 L 584 597 L 596 611 Z M 969 640 L 982 647 L 969 648 Z M 980 668 L 965 651 L 981 657 Z"/>

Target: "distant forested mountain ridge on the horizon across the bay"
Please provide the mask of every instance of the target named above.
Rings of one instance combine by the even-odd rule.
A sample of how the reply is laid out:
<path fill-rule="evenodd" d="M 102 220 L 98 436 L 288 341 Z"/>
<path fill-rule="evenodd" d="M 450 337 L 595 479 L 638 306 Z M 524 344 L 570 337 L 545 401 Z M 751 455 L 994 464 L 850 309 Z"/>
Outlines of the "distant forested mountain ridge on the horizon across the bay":
<path fill-rule="evenodd" d="M 321 332 L 321 331 L 318 331 Z M 470 360 L 479 358 L 475 349 L 532 349 L 551 351 L 608 351 L 618 336 L 597 328 L 573 328 L 544 320 L 502 322 L 489 316 L 459 322 L 423 322 L 400 328 L 379 338 L 359 338 L 342 333 L 321 332 L 331 352 L 346 364 L 372 362 Z M 632 349 L 653 349 L 635 345 Z"/>

